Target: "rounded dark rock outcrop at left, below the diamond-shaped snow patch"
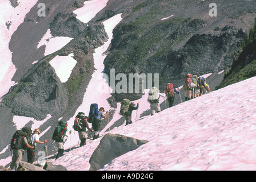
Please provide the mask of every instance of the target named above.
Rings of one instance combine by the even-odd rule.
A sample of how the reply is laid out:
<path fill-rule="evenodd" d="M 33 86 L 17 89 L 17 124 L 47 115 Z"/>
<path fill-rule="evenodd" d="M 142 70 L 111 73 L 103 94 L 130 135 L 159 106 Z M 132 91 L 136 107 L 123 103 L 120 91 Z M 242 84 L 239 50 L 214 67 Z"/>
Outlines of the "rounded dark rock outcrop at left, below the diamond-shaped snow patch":
<path fill-rule="evenodd" d="M 38 121 L 46 118 L 45 113 L 63 113 L 68 102 L 63 84 L 47 62 L 30 69 L 9 93 L 3 103 L 14 115 L 33 117 Z"/>

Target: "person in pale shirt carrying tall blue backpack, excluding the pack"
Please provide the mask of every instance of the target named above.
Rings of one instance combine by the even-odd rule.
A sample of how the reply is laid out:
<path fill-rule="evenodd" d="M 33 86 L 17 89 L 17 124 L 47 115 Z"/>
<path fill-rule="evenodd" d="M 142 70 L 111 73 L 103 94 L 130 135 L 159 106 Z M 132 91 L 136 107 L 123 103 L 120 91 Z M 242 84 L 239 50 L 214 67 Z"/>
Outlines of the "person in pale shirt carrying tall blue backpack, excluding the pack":
<path fill-rule="evenodd" d="M 105 115 L 104 112 L 105 110 L 103 107 L 99 108 L 97 118 L 93 118 L 93 122 L 91 123 L 91 125 L 93 126 L 93 130 L 95 132 L 93 140 L 99 138 L 99 127 L 101 126 L 101 121 L 103 119 L 106 119 L 107 115 L 109 115 L 109 111 L 107 111 Z"/>

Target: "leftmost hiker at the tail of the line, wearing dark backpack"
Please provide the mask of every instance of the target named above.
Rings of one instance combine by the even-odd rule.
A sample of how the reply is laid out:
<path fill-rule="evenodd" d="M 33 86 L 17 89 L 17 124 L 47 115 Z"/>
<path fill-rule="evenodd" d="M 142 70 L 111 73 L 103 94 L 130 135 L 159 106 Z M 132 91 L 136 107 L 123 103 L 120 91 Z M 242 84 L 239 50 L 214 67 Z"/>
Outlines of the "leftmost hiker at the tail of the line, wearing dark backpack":
<path fill-rule="evenodd" d="M 16 133 L 17 132 L 19 133 L 18 137 L 15 139 L 13 137 L 11 141 L 11 151 L 13 150 L 13 155 L 10 169 L 15 169 L 15 171 L 18 169 L 19 162 L 22 160 L 23 151 L 26 150 L 26 148 L 34 148 L 34 146 L 30 146 L 30 144 L 27 142 L 27 131 L 18 130 Z"/>

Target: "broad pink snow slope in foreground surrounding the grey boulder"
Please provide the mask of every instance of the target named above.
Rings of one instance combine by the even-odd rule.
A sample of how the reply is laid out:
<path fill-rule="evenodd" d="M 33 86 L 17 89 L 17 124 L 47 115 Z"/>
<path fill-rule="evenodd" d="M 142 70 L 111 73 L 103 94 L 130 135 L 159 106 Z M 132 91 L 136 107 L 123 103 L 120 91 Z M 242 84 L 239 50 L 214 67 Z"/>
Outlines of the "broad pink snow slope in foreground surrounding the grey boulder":
<path fill-rule="evenodd" d="M 107 133 L 149 142 L 101 170 L 255 170 L 254 81 L 256 77 L 110 130 Z M 90 156 L 99 141 L 87 142 L 54 164 L 68 170 L 89 170 Z"/>

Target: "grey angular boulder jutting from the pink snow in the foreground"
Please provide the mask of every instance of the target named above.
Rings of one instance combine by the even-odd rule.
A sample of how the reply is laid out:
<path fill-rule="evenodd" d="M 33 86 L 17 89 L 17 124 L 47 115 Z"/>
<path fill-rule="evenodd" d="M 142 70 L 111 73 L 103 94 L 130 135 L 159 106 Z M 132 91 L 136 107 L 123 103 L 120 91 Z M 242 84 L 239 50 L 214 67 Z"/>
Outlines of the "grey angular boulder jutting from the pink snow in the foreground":
<path fill-rule="evenodd" d="M 101 169 L 111 160 L 126 152 L 135 150 L 147 142 L 146 140 L 139 140 L 119 134 L 106 134 L 91 155 L 89 161 L 91 164 L 90 171 Z"/>

